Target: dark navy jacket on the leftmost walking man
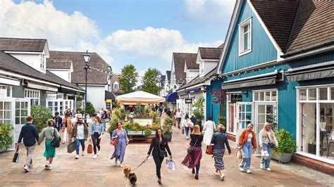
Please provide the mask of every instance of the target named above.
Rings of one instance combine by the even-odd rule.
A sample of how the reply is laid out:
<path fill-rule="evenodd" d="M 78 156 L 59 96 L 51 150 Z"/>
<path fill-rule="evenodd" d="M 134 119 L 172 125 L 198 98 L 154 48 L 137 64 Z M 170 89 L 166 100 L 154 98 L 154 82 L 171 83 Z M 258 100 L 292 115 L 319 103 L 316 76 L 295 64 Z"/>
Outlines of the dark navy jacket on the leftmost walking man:
<path fill-rule="evenodd" d="M 20 136 L 18 136 L 18 143 L 21 143 L 22 138 L 25 146 L 31 147 L 35 145 L 35 143 L 39 140 L 37 127 L 35 124 L 28 123 L 23 125 L 20 131 Z"/>

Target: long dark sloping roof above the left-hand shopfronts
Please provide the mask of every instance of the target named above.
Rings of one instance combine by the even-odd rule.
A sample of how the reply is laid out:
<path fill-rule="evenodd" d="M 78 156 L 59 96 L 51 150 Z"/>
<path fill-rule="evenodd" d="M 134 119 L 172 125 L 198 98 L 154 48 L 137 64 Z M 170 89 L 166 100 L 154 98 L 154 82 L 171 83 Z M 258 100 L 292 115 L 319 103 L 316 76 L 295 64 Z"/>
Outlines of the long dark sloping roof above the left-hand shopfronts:
<path fill-rule="evenodd" d="M 19 75 L 29 76 L 35 79 L 40 79 L 43 81 L 51 82 L 54 84 L 60 84 L 63 86 L 68 86 L 72 89 L 83 90 L 75 84 L 67 82 L 61 77 L 54 75 L 53 73 L 47 70 L 46 74 L 35 70 L 34 68 L 26 65 L 25 63 L 21 62 L 20 60 L 14 58 L 3 51 L 0 51 L 0 69 L 7 70 L 9 72 L 14 72 Z"/>

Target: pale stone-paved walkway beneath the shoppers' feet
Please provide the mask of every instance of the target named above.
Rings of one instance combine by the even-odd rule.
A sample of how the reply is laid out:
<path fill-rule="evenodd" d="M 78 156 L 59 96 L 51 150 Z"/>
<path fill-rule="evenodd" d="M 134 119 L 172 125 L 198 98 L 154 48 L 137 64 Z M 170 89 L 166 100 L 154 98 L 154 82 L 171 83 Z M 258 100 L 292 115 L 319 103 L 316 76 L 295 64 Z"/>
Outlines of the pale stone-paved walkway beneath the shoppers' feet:
<path fill-rule="evenodd" d="M 272 171 L 267 172 L 259 169 L 259 159 L 252 160 L 252 174 L 240 172 L 237 168 L 233 149 L 232 155 L 225 155 L 225 181 L 219 181 L 214 176 L 214 160 L 211 156 L 203 153 L 199 179 L 194 179 L 191 169 L 187 169 L 180 163 L 185 157 L 187 144 L 185 135 L 173 127 L 173 140 L 170 143 L 173 160 L 177 163 L 176 171 L 169 171 L 164 167 L 161 169 L 163 186 L 323 186 L 321 183 L 300 176 L 296 171 L 283 169 L 277 162 L 273 162 Z M 87 142 L 86 142 L 87 144 Z M 132 144 L 127 148 L 124 164 L 133 168 L 144 160 L 149 145 Z M 204 150 L 204 147 L 203 147 Z M 20 162 L 11 162 L 13 152 L 0 154 L 0 186 L 130 186 L 123 174 L 123 169 L 113 166 L 113 160 L 109 157 L 113 147 L 109 146 L 109 134 L 104 134 L 101 141 L 101 155 L 92 159 L 90 155 L 80 155 L 75 160 L 75 153 L 66 153 L 66 145 L 61 145 L 56 150 L 54 169 L 44 169 L 43 146 L 37 146 L 34 155 L 34 165 L 30 172 L 23 171 L 25 160 L 23 146 L 20 148 Z M 147 163 L 138 168 L 136 186 L 159 186 L 156 183 L 155 166 L 152 157 Z M 324 175 L 326 176 L 326 175 Z M 330 176 L 327 178 L 331 179 Z M 333 180 L 333 179 L 332 179 Z M 326 183 L 328 181 L 325 181 Z M 325 184 L 326 184 L 325 183 Z M 327 183 L 328 185 L 328 183 Z"/>

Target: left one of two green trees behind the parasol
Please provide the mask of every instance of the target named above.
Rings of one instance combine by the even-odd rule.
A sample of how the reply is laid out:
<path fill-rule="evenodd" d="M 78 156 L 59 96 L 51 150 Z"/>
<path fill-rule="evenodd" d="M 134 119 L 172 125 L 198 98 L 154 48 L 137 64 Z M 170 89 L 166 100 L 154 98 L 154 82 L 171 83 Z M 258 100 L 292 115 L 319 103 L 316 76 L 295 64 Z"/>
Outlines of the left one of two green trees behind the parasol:
<path fill-rule="evenodd" d="M 133 87 L 137 84 L 138 72 L 134 65 L 125 65 L 122 68 L 118 82 L 120 83 L 120 89 L 124 93 L 130 93 L 135 91 Z"/>

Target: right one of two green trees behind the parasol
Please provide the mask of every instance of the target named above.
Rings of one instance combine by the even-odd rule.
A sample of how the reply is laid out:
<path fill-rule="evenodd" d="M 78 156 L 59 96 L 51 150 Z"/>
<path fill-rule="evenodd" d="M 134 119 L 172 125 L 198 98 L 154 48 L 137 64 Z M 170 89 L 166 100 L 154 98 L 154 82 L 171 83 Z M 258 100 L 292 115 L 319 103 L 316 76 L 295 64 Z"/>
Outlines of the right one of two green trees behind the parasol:
<path fill-rule="evenodd" d="M 160 91 L 159 86 L 159 71 L 149 68 L 142 77 L 142 91 L 158 95 Z"/>

